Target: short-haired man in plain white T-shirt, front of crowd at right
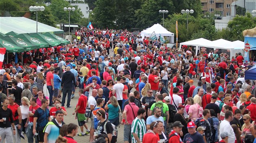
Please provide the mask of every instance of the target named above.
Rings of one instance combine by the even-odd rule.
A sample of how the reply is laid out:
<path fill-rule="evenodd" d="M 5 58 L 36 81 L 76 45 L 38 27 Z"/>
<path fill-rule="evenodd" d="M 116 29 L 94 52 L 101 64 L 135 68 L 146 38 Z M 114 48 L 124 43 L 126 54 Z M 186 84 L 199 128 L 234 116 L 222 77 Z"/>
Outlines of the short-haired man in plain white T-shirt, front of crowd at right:
<path fill-rule="evenodd" d="M 223 120 L 219 124 L 219 139 L 221 139 L 221 133 L 222 132 L 228 132 L 228 143 L 234 143 L 235 142 L 235 134 L 234 130 L 230 125 L 230 122 L 233 120 L 234 114 L 232 111 L 226 111 L 225 113 L 225 120 Z"/>

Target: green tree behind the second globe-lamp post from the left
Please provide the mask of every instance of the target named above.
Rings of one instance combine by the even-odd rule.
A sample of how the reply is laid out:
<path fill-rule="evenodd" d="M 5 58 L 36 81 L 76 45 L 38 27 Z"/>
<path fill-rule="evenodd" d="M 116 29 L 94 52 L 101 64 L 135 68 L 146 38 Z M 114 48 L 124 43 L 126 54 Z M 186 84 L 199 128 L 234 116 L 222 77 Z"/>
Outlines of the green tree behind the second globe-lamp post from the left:
<path fill-rule="evenodd" d="M 55 20 L 57 22 L 60 21 L 60 19 L 65 19 L 68 21 L 69 19 L 69 12 L 64 11 L 64 7 L 75 7 L 75 11 L 70 11 L 70 23 L 78 23 L 80 19 L 82 18 L 82 12 L 81 9 L 78 8 L 78 6 L 70 6 L 70 3 L 65 0 L 52 0 L 52 3 L 50 4 L 50 9 L 52 11 L 52 15 L 55 16 Z"/>

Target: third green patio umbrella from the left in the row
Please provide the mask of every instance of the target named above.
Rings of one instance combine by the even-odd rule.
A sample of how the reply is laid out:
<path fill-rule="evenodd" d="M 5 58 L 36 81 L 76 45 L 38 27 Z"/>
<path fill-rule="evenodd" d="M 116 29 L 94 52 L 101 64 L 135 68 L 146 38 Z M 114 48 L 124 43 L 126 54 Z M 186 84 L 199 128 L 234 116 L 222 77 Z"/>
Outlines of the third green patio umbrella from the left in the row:
<path fill-rule="evenodd" d="M 47 48 L 47 47 L 49 47 L 48 43 L 43 42 L 43 41 L 41 41 L 37 38 L 30 37 L 30 36 L 28 36 L 28 34 L 19 34 L 17 36 L 14 36 L 14 38 L 29 42 L 31 44 L 34 44 L 34 45 L 37 46 L 37 48 Z"/>

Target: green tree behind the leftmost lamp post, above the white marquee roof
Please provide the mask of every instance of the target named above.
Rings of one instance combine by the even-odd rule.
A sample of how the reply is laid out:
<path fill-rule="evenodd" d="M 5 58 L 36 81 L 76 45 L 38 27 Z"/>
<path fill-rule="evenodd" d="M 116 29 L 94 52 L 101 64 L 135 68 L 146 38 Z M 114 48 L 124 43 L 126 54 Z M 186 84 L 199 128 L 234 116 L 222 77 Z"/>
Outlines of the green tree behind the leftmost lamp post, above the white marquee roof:
<path fill-rule="evenodd" d="M 51 13 L 51 10 L 48 6 L 45 6 L 45 10 L 36 12 L 31 12 L 30 19 L 37 20 L 38 22 L 44 23 L 46 25 L 50 25 L 52 27 L 55 27 L 56 21 L 54 20 L 54 16 Z"/>

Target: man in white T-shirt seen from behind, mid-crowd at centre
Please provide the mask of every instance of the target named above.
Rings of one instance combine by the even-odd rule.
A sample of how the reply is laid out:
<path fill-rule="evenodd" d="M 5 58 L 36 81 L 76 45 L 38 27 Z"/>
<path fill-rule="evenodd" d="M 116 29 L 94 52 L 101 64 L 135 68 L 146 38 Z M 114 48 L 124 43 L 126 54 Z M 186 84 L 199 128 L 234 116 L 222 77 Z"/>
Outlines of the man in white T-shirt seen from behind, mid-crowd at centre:
<path fill-rule="evenodd" d="M 124 84 L 121 84 L 120 80 L 121 77 L 117 76 L 117 84 L 113 86 L 112 95 L 116 93 L 118 104 L 122 109 Z"/>

